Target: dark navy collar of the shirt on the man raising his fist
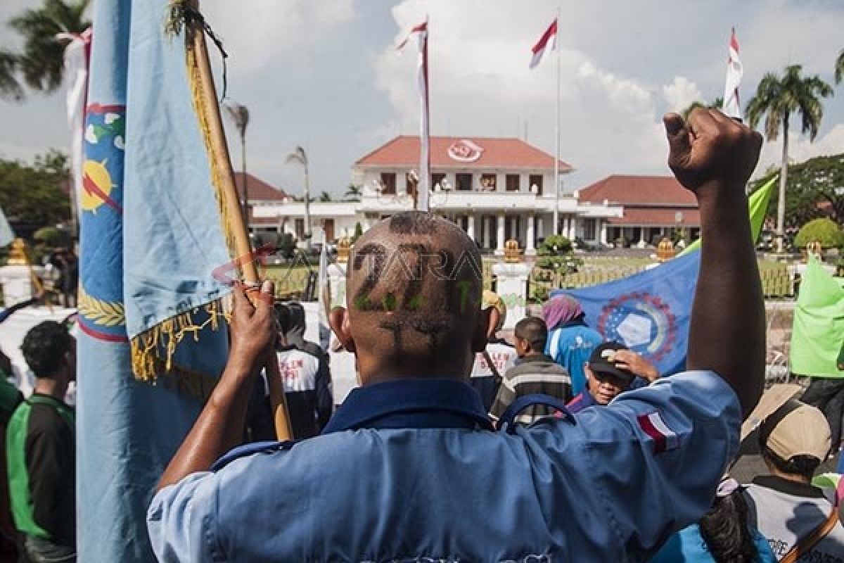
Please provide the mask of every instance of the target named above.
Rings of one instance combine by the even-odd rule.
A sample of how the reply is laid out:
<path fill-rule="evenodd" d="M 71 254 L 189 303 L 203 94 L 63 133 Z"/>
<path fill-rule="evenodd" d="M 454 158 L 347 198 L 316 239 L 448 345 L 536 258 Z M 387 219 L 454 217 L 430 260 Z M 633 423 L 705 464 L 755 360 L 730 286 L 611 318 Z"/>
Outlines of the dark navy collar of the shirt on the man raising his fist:
<path fill-rule="evenodd" d="M 373 383 L 352 390 L 322 433 L 361 428 L 493 427 L 478 392 L 467 383 L 419 378 Z"/>

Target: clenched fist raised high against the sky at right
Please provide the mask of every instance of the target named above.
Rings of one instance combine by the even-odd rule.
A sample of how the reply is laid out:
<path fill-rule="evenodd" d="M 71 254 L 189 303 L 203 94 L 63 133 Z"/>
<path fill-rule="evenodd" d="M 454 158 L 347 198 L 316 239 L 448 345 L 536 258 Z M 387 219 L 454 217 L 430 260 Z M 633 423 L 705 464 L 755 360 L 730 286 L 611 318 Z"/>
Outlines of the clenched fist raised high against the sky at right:
<path fill-rule="evenodd" d="M 686 122 L 676 113 L 664 116 L 663 122 L 668 166 L 684 187 L 698 196 L 710 188 L 744 190 L 759 160 L 759 133 L 721 111 L 704 108 L 692 111 Z"/>

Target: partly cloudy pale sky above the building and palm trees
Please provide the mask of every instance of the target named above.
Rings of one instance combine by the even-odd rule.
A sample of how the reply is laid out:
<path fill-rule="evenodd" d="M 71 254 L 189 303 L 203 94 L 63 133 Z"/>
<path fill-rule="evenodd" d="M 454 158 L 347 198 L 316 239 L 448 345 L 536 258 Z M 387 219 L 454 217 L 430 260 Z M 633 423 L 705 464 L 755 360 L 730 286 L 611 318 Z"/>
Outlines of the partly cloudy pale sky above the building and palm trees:
<path fill-rule="evenodd" d="M 36 0 L 3 0 L 0 21 Z M 300 192 L 284 156 L 303 145 L 311 189 L 342 194 L 354 160 L 418 131 L 415 52 L 393 45 L 430 17 L 433 134 L 518 136 L 554 150 L 554 58 L 527 69 L 530 46 L 560 8 L 561 149 L 576 171 L 565 187 L 609 174 L 666 174 L 660 116 L 722 95 L 727 42 L 742 46 L 744 100 L 761 76 L 803 63 L 832 83 L 844 48 L 844 3 L 808 0 L 203 0 L 225 41 L 229 98 L 249 107 L 248 168 Z M 0 45 L 17 46 L 0 27 Z M 63 93 L 0 101 L 0 154 L 30 159 L 67 148 Z M 230 132 L 231 133 L 231 132 Z M 794 132 L 793 158 L 844 152 L 844 84 L 825 100 L 815 143 Z M 230 138 L 235 165 L 240 150 Z M 766 143 L 760 170 L 776 162 Z"/>

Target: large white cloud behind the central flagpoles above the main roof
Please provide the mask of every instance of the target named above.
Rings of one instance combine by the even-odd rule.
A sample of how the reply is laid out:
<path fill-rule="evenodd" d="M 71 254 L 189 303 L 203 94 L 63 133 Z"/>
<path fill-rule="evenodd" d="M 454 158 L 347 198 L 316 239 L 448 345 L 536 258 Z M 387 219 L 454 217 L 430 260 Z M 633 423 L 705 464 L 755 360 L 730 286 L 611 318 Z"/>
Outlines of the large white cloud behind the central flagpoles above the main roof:
<path fill-rule="evenodd" d="M 431 21 L 432 133 L 522 136 L 518 124 L 527 122 L 528 142 L 553 152 L 556 53 L 547 53 L 538 68 L 528 68 L 533 35 L 541 34 L 542 23 L 522 24 L 535 17 L 517 4 L 499 3 L 494 11 L 496 33 L 490 34 L 491 24 L 473 21 L 482 12 L 477 2 L 426 7 Z M 420 19 L 417 8 L 417 0 L 407 0 L 393 9 L 400 29 L 407 30 Z M 473 24 L 466 25 L 467 21 Z M 674 84 L 653 87 L 602 68 L 582 51 L 560 46 L 560 156 L 578 171 L 566 185 L 581 187 L 613 172 L 667 171 L 659 93 L 671 92 L 679 100 L 699 94 L 695 84 L 675 78 Z M 392 46 L 381 52 L 376 84 L 393 109 L 385 125 L 399 122 L 402 133 L 415 134 L 419 127 L 416 49 L 413 45 L 406 49 L 401 57 Z"/>

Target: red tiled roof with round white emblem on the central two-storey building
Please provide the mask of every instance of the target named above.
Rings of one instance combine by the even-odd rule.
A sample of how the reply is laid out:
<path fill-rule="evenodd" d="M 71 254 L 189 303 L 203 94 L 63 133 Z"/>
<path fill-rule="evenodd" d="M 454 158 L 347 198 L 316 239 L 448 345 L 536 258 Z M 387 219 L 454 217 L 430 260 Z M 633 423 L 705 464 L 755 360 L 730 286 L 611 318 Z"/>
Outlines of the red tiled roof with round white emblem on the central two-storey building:
<path fill-rule="evenodd" d="M 478 160 L 454 160 L 448 148 L 461 140 L 484 149 Z M 419 165 L 419 137 L 401 135 L 366 154 L 354 163 L 367 166 Z M 433 168 L 554 168 L 554 156 L 518 138 L 431 137 L 430 165 Z M 571 165 L 560 160 L 560 172 L 571 172 Z"/>

